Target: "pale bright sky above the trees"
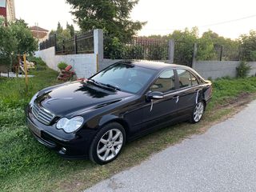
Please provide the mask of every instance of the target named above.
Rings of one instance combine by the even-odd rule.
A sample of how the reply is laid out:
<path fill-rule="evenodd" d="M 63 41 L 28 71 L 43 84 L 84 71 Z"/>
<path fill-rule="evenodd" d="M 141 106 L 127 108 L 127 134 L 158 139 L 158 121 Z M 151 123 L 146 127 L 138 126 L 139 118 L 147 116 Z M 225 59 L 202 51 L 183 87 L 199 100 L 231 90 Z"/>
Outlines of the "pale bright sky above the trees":
<path fill-rule="evenodd" d="M 74 23 L 71 6 L 65 0 L 14 0 L 16 18 L 29 26 L 56 29 L 58 22 Z M 199 34 L 213 30 L 225 38 L 238 38 L 256 30 L 255 0 L 139 0 L 132 10 L 133 20 L 147 22 L 138 35 L 170 34 L 174 30 L 198 26 Z M 74 24 L 76 30 L 78 26 Z"/>

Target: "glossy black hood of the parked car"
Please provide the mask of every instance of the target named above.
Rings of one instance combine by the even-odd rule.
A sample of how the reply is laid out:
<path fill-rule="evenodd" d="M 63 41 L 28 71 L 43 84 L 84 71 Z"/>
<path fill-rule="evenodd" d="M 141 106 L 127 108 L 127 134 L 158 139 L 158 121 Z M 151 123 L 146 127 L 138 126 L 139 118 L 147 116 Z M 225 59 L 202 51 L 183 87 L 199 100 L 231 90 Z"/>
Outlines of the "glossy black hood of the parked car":
<path fill-rule="evenodd" d="M 85 82 L 73 82 L 54 87 L 40 94 L 36 102 L 57 116 L 78 114 L 85 110 L 98 109 L 130 98 L 134 94 L 105 90 Z"/>

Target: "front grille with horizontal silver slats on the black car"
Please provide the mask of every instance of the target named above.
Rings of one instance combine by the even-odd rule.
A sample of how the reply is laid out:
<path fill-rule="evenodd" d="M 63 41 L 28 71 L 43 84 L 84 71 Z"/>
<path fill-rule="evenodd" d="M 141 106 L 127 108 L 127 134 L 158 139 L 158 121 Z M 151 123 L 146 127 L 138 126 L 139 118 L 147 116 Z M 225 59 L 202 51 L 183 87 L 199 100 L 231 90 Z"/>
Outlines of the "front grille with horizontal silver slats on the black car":
<path fill-rule="evenodd" d="M 42 122 L 45 125 L 49 125 L 54 119 L 54 114 L 50 113 L 49 110 L 46 110 L 42 106 L 38 106 L 37 102 L 34 102 L 34 105 L 32 106 L 32 114 L 39 122 Z"/>

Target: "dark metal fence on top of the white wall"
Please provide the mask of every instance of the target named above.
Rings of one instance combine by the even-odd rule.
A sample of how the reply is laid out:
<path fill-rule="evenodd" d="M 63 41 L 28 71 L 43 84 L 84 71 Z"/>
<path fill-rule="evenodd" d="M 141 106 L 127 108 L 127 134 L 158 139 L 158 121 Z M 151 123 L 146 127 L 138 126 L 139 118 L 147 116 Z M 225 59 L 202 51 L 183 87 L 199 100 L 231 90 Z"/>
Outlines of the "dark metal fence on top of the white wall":
<path fill-rule="evenodd" d="M 58 35 L 50 36 L 46 41 L 40 43 L 40 50 L 55 47 L 55 54 L 93 54 L 94 53 L 94 31 L 84 34 L 76 34 L 73 38 L 62 39 Z"/>

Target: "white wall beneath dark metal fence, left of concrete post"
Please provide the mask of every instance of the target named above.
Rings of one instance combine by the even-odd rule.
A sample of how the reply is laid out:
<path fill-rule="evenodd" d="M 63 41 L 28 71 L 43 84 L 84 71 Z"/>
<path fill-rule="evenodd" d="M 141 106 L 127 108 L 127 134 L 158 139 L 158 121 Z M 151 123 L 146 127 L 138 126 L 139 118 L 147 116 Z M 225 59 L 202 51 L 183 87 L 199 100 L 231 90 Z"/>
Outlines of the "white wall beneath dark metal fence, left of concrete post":
<path fill-rule="evenodd" d="M 78 78 L 89 78 L 97 71 L 96 54 L 55 55 L 54 47 L 50 47 L 46 50 L 38 50 L 35 56 L 42 58 L 53 70 L 58 70 L 59 62 L 66 62 L 73 66 Z"/>

